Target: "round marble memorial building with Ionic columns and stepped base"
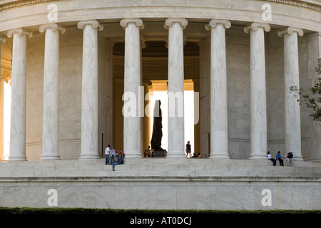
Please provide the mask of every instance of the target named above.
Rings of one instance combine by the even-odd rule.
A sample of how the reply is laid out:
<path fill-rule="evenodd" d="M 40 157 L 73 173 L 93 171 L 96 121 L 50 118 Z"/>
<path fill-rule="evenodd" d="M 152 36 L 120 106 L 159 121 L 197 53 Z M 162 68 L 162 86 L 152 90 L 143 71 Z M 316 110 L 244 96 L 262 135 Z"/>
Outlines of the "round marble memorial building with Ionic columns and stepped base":
<path fill-rule="evenodd" d="M 321 209 L 321 123 L 290 93 L 317 82 L 320 21 L 318 0 L 0 1 L 0 207 Z"/>

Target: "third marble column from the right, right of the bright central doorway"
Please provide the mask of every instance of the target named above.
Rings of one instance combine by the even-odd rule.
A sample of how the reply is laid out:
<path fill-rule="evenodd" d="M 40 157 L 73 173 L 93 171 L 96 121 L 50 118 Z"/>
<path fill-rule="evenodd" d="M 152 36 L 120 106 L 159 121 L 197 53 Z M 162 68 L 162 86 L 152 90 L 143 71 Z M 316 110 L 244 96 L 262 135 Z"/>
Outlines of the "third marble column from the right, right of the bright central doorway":
<path fill-rule="evenodd" d="M 230 21 L 211 20 L 205 26 L 210 36 L 210 158 L 228 155 L 228 84 L 226 76 L 225 28 Z"/>

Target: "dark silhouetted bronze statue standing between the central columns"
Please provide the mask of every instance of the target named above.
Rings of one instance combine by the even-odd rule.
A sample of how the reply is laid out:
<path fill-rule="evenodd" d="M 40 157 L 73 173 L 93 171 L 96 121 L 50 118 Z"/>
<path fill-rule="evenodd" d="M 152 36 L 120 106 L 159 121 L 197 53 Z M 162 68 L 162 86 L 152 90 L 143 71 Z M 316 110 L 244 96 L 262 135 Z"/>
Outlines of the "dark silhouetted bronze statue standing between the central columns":
<path fill-rule="evenodd" d="M 161 100 L 156 100 L 154 107 L 154 123 L 153 123 L 153 135 L 151 139 L 151 148 L 155 151 L 164 150 L 162 145 L 162 110 L 161 110 Z"/>

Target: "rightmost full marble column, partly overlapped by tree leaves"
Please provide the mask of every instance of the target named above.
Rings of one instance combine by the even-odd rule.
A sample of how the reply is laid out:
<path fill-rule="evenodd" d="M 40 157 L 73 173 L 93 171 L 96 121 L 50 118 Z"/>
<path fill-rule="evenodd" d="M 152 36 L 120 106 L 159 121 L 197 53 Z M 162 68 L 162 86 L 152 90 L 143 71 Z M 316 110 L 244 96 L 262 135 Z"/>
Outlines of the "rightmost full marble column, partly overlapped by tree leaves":
<path fill-rule="evenodd" d="M 293 151 L 293 160 L 302 160 L 300 105 L 290 93 L 290 86 L 300 88 L 297 35 L 303 36 L 301 28 L 282 28 L 277 32 L 284 36 L 285 81 L 285 152 Z"/>

